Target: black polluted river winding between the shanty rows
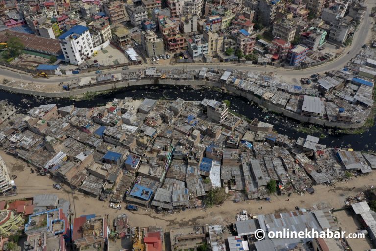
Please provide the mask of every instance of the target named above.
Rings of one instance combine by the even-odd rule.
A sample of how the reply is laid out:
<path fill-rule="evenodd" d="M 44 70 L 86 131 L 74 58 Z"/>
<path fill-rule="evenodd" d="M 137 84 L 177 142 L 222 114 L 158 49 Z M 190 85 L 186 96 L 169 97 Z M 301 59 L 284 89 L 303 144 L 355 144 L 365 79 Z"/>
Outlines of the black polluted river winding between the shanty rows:
<path fill-rule="evenodd" d="M 258 120 L 268 122 L 274 125 L 274 130 L 278 133 L 287 135 L 290 138 L 297 139 L 298 137 L 306 137 L 306 134 L 297 132 L 293 128 L 300 125 L 298 121 L 286 118 L 284 116 L 275 115 L 262 109 L 256 104 L 248 102 L 245 98 L 230 96 L 227 93 L 222 93 L 218 91 L 212 91 L 208 89 L 195 90 L 190 87 L 186 88 L 174 88 L 168 87 L 154 87 L 156 89 L 150 89 L 146 87 L 135 87 L 132 89 L 119 90 L 110 94 L 103 94 L 95 97 L 93 100 L 70 100 L 70 99 L 48 99 L 48 98 L 38 98 L 34 96 L 8 93 L 0 91 L 0 100 L 6 99 L 9 103 L 16 106 L 19 113 L 26 113 L 27 110 L 34 106 L 39 106 L 41 104 L 52 104 L 55 103 L 58 107 L 75 105 L 76 107 L 90 108 L 94 106 L 102 106 L 106 102 L 112 101 L 114 98 L 123 99 L 125 97 L 132 97 L 133 99 L 164 99 L 164 100 L 176 100 L 177 98 L 182 98 L 187 101 L 201 101 L 204 98 L 221 100 L 230 100 L 230 109 L 236 111 L 239 114 L 245 115 L 249 119 L 257 118 Z M 28 102 L 22 101 L 27 99 Z M 268 116 L 268 119 L 266 119 Z M 321 138 L 319 143 L 327 145 L 327 147 L 352 147 L 356 151 L 375 151 L 376 150 L 376 125 L 369 128 L 362 135 L 336 135 L 329 134 L 329 128 L 323 128 L 323 134 L 325 138 Z M 331 129 L 332 131 L 334 129 Z M 313 134 L 314 136 L 319 136 L 320 133 Z"/>

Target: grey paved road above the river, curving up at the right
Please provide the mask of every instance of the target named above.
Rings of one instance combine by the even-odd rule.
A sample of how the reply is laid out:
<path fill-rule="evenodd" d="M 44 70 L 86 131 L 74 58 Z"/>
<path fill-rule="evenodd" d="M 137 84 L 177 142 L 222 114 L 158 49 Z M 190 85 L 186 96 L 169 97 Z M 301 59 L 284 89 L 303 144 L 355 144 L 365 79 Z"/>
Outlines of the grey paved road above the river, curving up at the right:
<path fill-rule="evenodd" d="M 255 71 L 255 72 L 274 72 L 276 75 L 281 76 L 283 79 L 289 79 L 291 82 L 299 82 L 299 79 L 302 77 L 310 76 L 314 73 L 322 73 L 325 71 L 336 70 L 340 69 L 341 67 L 345 66 L 356 54 L 361 50 L 361 46 L 367 42 L 367 38 L 371 33 L 372 24 L 371 21 L 373 19 L 370 17 L 371 8 L 375 5 L 374 0 L 368 1 L 367 6 L 368 10 L 364 14 L 363 21 L 361 22 L 360 26 L 358 27 L 358 31 L 353 36 L 352 44 L 348 48 L 345 49 L 344 53 L 336 58 L 335 60 L 328 62 L 323 65 L 303 69 L 303 70 L 286 70 L 284 68 L 275 68 L 272 66 L 246 66 L 246 65 L 238 65 L 238 64 L 185 64 L 185 65 L 157 65 L 158 69 L 168 70 L 171 68 L 174 69 L 201 69 L 202 67 L 208 68 L 217 68 L 217 69 L 237 69 L 237 70 L 246 70 L 246 71 Z M 348 53 L 349 52 L 349 53 Z M 135 71 L 136 69 L 146 68 L 150 65 L 143 65 L 143 66 L 132 66 L 127 71 Z M 152 65 L 155 66 L 155 65 Z M 116 70 L 106 70 L 104 72 L 111 72 L 111 73 L 120 73 L 124 72 L 120 68 Z M 67 76 L 56 76 L 51 77 L 49 79 L 34 79 L 30 75 L 26 75 L 23 73 L 17 73 L 7 69 L 0 69 L 0 75 L 4 78 L 8 78 L 8 80 L 24 80 L 29 82 L 36 82 L 36 83 L 59 83 L 59 82 L 66 82 L 71 79 L 84 77 L 84 76 L 94 76 L 96 75 L 95 72 L 80 74 L 80 75 L 67 75 Z"/>

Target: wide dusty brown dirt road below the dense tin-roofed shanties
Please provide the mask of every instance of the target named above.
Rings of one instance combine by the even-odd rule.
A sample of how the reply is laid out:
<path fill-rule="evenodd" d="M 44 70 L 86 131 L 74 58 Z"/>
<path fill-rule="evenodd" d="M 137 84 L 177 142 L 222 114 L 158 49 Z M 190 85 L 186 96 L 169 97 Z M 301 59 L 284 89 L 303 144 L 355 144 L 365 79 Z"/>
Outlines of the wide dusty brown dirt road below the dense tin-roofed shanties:
<path fill-rule="evenodd" d="M 117 215 L 126 213 L 129 216 L 131 226 L 162 226 L 164 231 L 169 231 L 171 228 L 180 226 L 228 224 L 235 222 L 236 213 L 240 210 L 247 210 L 251 214 L 268 214 L 294 210 L 295 206 L 318 209 L 322 207 L 341 208 L 344 205 L 346 197 L 364 190 L 365 186 L 376 184 L 376 172 L 372 172 L 369 176 L 352 178 L 348 182 L 338 183 L 335 188 L 324 185 L 315 186 L 314 194 L 303 196 L 293 194 L 289 197 L 289 201 L 286 201 L 287 196 L 272 196 L 271 202 L 247 200 L 234 204 L 231 200 L 228 200 L 220 207 L 188 210 L 175 214 L 156 214 L 151 209 L 143 208 L 133 213 L 124 209 L 125 203 L 122 203 L 122 209 L 118 211 L 109 208 L 107 202 L 101 202 L 98 199 L 88 197 L 77 191 L 71 191 L 67 186 L 64 186 L 62 190 L 56 190 L 52 187 L 55 183 L 52 179 L 47 176 L 37 176 L 35 173 L 31 174 L 30 167 L 26 163 L 6 155 L 3 151 L 0 151 L 0 155 L 5 160 L 5 163 L 7 163 L 10 173 L 18 176 L 15 179 L 18 195 L 11 199 L 31 197 L 35 194 L 55 193 L 59 197 L 71 202 L 75 215 L 80 216 L 91 213 L 108 215 L 112 223 Z M 349 188 L 354 186 L 356 188 L 349 191 Z M 353 220 L 351 221 L 351 216 L 349 218 L 346 212 L 343 211 L 337 212 L 336 215 L 338 216 L 340 226 L 344 227 L 344 230 L 356 232 L 357 223 L 354 223 Z M 112 227 L 111 225 L 110 228 Z M 362 240 L 351 240 L 350 245 L 353 250 L 365 250 L 367 248 L 367 242 Z M 359 249 L 360 246 L 362 249 Z"/>

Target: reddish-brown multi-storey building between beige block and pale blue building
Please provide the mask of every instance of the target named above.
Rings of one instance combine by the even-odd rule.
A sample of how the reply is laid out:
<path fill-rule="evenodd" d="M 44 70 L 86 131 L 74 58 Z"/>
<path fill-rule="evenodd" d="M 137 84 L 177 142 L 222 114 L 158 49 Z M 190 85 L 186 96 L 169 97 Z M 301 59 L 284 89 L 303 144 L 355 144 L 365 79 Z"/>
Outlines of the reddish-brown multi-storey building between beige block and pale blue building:
<path fill-rule="evenodd" d="M 174 19 L 163 17 L 159 20 L 159 30 L 162 33 L 164 46 L 171 52 L 184 50 L 186 43 L 179 32 L 179 22 Z"/>

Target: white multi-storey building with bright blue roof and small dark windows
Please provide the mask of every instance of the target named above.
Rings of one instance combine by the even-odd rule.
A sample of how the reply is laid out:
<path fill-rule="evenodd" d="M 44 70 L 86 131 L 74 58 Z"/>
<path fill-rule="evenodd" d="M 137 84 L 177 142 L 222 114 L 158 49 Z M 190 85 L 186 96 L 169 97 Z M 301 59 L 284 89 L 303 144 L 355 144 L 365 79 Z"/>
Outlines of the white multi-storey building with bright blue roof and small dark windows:
<path fill-rule="evenodd" d="M 73 65 L 82 64 L 93 54 L 93 43 L 88 27 L 74 26 L 59 36 L 59 42 L 66 61 Z"/>

